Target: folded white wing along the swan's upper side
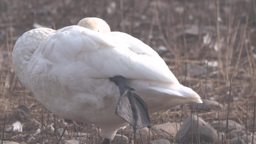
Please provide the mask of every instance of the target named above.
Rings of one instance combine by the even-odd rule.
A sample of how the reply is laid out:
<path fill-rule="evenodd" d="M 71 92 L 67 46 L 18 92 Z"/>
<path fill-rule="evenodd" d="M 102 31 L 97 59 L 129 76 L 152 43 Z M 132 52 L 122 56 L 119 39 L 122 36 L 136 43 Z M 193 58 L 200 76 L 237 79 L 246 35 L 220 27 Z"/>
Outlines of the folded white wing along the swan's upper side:
<path fill-rule="evenodd" d="M 43 59 L 53 63 L 78 62 L 76 65 L 86 69 L 90 78 L 121 75 L 127 79 L 179 83 L 158 53 L 125 33 L 102 34 L 69 26 L 52 33 L 41 47 Z"/>

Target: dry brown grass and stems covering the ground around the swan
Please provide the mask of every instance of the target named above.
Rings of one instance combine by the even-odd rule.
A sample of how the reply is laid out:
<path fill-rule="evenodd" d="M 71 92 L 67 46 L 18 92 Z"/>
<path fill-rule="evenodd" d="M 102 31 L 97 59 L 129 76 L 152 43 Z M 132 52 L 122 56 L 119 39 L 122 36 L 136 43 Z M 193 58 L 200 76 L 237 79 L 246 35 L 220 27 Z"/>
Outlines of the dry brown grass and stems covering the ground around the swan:
<path fill-rule="evenodd" d="M 256 93 L 255 4 L 253 0 L 1 0 L 0 134 L 5 115 L 6 126 L 12 125 L 16 121 L 13 111 L 24 104 L 31 113 L 22 120 L 23 132 L 6 133 L 4 140 L 56 143 L 60 136 L 51 131 L 52 125 L 67 126 L 65 138 L 88 132 L 91 138 L 83 142 L 96 143 L 97 127 L 94 131 L 93 125 L 64 123 L 43 108 L 18 81 L 11 64 L 13 45 L 25 31 L 36 24 L 57 30 L 76 25 L 84 17 L 103 18 L 112 31 L 142 40 L 162 56 L 180 83 L 194 89 L 202 98 L 224 105 L 220 114 L 199 112 L 199 117 L 207 122 L 225 120 L 229 112 L 229 119 L 245 125 L 246 119 L 253 119 Z M 191 64 L 205 71 L 190 68 Z M 152 114 L 152 124 L 174 122 L 174 117 L 178 123 L 182 122 L 191 114 L 189 107 L 190 104 Z M 249 133 L 252 128 L 248 128 Z"/>

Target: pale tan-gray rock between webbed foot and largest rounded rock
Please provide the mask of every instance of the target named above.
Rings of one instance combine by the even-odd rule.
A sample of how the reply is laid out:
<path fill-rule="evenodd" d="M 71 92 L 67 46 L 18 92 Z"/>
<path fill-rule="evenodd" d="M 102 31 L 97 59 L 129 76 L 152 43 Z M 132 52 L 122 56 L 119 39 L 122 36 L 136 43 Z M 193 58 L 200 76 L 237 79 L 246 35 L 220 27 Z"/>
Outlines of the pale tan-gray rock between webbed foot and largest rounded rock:
<path fill-rule="evenodd" d="M 180 124 L 177 123 L 177 127 L 178 130 L 180 129 Z M 151 129 L 157 134 L 157 135 L 168 135 L 165 134 L 166 132 L 168 132 L 169 134 L 171 134 L 172 136 L 175 136 L 177 133 L 177 129 L 176 129 L 176 123 L 165 123 L 165 124 L 160 124 L 160 125 L 154 125 L 151 127 Z M 164 131 L 162 131 L 162 130 Z"/>

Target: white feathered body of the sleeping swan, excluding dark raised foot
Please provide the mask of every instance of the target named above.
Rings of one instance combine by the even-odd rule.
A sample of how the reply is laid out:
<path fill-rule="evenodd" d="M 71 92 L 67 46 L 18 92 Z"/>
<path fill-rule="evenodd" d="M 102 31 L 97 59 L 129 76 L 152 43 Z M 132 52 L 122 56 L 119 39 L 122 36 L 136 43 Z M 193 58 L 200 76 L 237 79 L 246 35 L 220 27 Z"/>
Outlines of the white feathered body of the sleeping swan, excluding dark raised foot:
<path fill-rule="evenodd" d="M 12 64 L 19 80 L 54 114 L 94 123 L 104 138 L 112 140 L 118 129 L 128 125 L 115 114 L 120 94 L 109 80 L 114 76 L 125 78 L 149 113 L 202 102 L 140 40 L 110 32 L 98 18 L 82 19 L 79 25 L 30 30 L 13 49 Z"/>

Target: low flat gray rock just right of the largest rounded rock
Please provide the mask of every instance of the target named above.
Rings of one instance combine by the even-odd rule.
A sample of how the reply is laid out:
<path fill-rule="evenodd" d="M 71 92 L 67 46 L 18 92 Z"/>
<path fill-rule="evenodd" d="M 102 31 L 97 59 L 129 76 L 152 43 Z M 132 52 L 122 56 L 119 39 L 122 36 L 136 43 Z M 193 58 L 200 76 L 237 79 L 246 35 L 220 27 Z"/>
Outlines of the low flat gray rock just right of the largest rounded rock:
<path fill-rule="evenodd" d="M 220 120 L 220 123 L 218 120 L 214 120 L 210 123 L 210 125 L 218 130 L 218 125 L 219 125 L 219 131 L 225 131 L 226 130 L 226 120 Z M 240 125 L 239 123 L 233 121 L 233 120 L 228 120 L 228 131 L 232 131 L 234 129 L 241 129 L 244 130 L 245 127 Z"/>

